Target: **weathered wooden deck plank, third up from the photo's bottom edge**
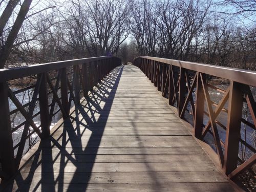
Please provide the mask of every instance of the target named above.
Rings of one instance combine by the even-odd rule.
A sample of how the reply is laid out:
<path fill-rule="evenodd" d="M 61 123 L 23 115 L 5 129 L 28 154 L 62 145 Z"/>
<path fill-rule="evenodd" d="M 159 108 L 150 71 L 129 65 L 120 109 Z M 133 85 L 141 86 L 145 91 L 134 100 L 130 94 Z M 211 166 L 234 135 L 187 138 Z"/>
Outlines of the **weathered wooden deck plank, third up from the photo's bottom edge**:
<path fill-rule="evenodd" d="M 148 162 L 148 163 L 61 163 L 50 162 L 33 165 L 28 163 L 20 172 L 212 172 L 216 166 L 212 162 Z M 44 168 L 42 168 L 44 166 Z"/>

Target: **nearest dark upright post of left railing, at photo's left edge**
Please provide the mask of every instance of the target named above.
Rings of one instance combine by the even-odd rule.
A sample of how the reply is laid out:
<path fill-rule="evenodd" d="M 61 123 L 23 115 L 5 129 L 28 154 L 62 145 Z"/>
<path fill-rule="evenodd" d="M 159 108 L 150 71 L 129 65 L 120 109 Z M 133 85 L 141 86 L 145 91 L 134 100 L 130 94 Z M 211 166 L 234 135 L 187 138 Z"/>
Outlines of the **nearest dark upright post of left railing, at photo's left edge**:
<path fill-rule="evenodd" d="M 3 172 L 12 176 L 15 173 L 15 159 L 7 86 L 6 82 L 0 82 L 0 162 Z"/>

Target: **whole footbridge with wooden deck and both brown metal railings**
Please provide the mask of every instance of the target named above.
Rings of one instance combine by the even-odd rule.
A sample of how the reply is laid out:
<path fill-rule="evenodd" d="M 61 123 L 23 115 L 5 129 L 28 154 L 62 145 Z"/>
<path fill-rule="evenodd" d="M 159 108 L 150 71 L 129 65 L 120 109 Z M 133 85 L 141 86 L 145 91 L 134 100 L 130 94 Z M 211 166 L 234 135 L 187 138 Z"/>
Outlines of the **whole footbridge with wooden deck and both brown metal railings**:
<path fill-rule="evenodd" d="M 255 129 L 249 86 L 256 87 L 256 73 L 153 57 L 120 64 L 116 57 L 96 57 L 0 70 L 0 190 L 242 190 L 236 177 L 255 164 L 255 148 L 242 141 L 240 128 L 243 122 Z M 20 90 L 7 83 L 34 74 L 35 84 Z M 216 88 L 205 74 L 230 84 Z M 209 88 L 222 93 L 219 103 L 210 100 Z M 24 104 L 15 95 L 29 89 L 33 96 Z M 11 102 L 16 109 L 9 112 Z M 243 102 L 252 123 L 242 118 Z M 11 127 L 17 111 L 25 121 Z M 226 125 L 217 119 L 221 112 L 227 113 Z M 57 113 L 63 118 L 50 130 Z M 224 141 L 219 124 L 225 127 Z M 20 127 L 21 138 L 13 144 Z M 214 150 L 204 142 L 206 132 Z M 35 134 L 41 140 L 24 155 Z M 239 157 L 241 142 L 254 154 L 247 160 Z"/>

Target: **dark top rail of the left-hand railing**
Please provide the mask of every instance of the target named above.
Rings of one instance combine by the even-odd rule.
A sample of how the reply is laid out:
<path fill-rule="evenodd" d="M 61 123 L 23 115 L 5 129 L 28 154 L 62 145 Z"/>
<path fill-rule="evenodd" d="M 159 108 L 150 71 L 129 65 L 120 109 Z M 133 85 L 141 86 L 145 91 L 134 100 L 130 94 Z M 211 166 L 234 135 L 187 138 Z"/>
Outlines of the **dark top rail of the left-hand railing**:
<path fill-rule="evenodd" d="M 115 56 L 90 57 L 90 58 L 82 58 L 82 59 L 41 63 L 41 64 L 36 64 L 31 66 L 16 67 L 16 68 L 10 68 L 10 69 L 0 69 L 0 82 L 23 78 L 30 75 L 53 71 L 61 68 L 81 65 L 81 63 L 84 63 L 84 62 L 92 62 L 96 60 L 102 60 L 102 59 L 113 58 L 113 57 Z"/>

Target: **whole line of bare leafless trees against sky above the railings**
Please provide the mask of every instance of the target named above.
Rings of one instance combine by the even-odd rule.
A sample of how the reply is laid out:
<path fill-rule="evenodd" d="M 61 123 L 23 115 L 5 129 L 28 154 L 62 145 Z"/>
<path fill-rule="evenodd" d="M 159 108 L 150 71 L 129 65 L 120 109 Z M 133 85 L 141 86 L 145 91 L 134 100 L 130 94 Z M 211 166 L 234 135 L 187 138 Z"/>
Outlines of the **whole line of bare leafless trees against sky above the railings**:
<path fill-rule="evenodd" d="M 255 70 L 255 12 L 240 0 L 2 0 L 0 68 L 148 55 Z"/>

